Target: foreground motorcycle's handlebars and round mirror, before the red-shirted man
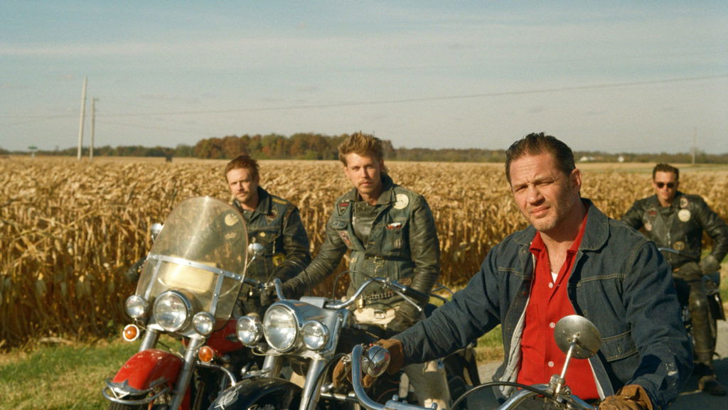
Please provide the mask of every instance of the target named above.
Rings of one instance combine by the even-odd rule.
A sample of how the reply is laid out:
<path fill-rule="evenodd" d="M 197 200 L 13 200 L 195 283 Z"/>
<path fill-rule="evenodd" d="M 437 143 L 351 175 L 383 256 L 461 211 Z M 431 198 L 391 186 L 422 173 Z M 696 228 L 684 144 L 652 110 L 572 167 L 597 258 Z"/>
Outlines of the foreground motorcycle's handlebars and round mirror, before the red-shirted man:
<path fill-rule="evenodd" d="M 555 404 L 562 409 L 596 410 L 596 407 L 583 401 L 577 395 L 571 393 L 566 385 L 564 377 L 569 368 L 571 358 L 586 359 L 596 355 L 601 346 L 601 336 L 596 326 L 588 319 L 578 315 L 569 315 L 561 318 L 554 328 L 556 344 L 562 352 L 566 353 L 566 361 L 561 369 L 561 374 L 554 374 L 548 385 L 522 385 L 516 382 L 488 382 L 468 390 L 453 402 L 451 409 L 457 409 L 461 403 L 465 403 L 468 396 L 479 390 L 491 387 L 519 388 L 513 395 L 498 407 L 498 410 L 513 410 L 523 401 L 542 396 L 546 401 Z M 373 346 L 365 350 L 362 345 L 357 345 L 350 355 L 352 363 L 352 385 L 357 401 L 368 410 L 426 410 L 421 406 L 399 401 L 396 395 L 384 404 L 372 400 L 362 384 L 362 374 L 371 377 L 379 377 L 389 365 L 389 352 L 384 347 Z M 478 409 L 483 404 L 478 403 Z M 431 409 L 427 409 L 431 410 Z"/>

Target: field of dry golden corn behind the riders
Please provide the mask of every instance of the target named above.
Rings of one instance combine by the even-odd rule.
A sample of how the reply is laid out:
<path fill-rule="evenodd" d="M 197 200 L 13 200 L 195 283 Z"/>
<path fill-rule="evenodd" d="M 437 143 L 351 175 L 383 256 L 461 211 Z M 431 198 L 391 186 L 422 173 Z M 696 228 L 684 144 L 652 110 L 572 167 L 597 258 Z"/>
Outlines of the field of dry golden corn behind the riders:
<path fill-rule="evenodd" d="M 88 339 L 128 319 L 135 285 L 122 273 L 149 250 L 149 227 L 189 197 L 229 200 L 224 161 L 0 159 L 0 349 L 44 336 Z M 488 250 L 526 226 L 502 165 L 389 163 L 423 194 L 442 248 L 440 282 L 463 285 Z M 586 168 L 582 196 L 619 218 L 651 194 L 649 167 Z M 681 187 L 728 219 L 728 170 L 684 170 Z M 337 162 L 261 162 L 261 186 L 301 210 L 312 254 L 336 197 L 350 189 Z M 320 287 L 320 291 L 326 285 Z"/>

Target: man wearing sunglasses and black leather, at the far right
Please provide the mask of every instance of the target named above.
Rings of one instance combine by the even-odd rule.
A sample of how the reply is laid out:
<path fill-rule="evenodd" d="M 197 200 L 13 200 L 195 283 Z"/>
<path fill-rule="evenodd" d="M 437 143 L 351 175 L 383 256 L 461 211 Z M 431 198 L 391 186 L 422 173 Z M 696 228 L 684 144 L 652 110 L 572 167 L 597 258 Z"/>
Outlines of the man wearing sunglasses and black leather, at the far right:
<path fill-rule="evenodd" d="M 698 386 L 705 393 L 725 395 L 726 389 L 713 370 L 715 346 L 703 275 L 720 270 L 720 262 L 728 253 L 728 226 L 703 198 L 678 191 L 679 177 L 678 168 L 657 164 L 652 170 L 654 195 L 636 201 L 622 221 L 643 229 L 673 268 L 678 297 L 682 304 L 688 304 L 692 317 Z M 701 258 L 703 231 L 713 238 L 713 248 Z"/>

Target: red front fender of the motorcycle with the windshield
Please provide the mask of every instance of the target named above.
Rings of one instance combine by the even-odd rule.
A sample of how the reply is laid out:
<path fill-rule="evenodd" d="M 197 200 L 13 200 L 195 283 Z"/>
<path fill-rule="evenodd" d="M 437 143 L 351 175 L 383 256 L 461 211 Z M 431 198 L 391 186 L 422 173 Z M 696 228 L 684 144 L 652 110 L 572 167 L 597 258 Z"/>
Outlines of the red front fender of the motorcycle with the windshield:
<path fill-rule="evenodd" d="M 182 358 L 173 353 L 158 349 L 142 350 L 124 363 L 109 385 L 137 392 L 162 384 L 174 388 L 181 367 Z M 134 394 L 132 391 L 129 393 Z"/>

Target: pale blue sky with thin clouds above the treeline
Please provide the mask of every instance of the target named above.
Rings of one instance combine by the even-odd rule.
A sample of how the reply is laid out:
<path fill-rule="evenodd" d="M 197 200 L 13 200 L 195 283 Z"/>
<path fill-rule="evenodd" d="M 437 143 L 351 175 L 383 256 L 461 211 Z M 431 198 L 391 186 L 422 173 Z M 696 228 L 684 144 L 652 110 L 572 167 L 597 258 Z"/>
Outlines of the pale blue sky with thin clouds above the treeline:
<path fill-rule="evenodd" d="M 0 4 L 0 148 L 363 131 L 728 152 L 728 1 Z"/>

